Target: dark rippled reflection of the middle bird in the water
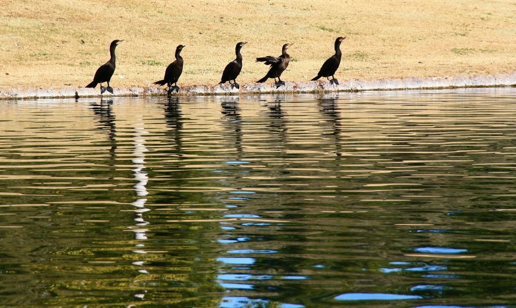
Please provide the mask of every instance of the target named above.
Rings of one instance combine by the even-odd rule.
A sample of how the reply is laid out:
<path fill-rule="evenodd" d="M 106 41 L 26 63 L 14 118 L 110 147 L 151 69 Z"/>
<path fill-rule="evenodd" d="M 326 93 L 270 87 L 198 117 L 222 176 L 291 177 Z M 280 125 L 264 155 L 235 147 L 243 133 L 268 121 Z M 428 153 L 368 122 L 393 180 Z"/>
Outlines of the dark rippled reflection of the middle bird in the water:
<path fill-rule="evenodd" d="M 239 99 L 238 96 L 226 98 L 220 104 L 225 128 L 224 138 L 233 144 L 237 153 L 236 160 L 241 160 L 244 152 L 242 148 L 242 115 L 238 106 Z"/>

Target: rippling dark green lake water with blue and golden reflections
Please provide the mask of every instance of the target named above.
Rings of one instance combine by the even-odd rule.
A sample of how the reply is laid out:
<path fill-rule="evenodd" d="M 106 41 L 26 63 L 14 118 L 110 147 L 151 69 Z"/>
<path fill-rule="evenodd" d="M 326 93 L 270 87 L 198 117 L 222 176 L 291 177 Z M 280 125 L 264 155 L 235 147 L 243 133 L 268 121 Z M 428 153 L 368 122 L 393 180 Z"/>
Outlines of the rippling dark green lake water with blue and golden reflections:
<path fill-rule="evenodd" d="M 0 103 L 0 303 L 516 302 L 516 89 Z"/>

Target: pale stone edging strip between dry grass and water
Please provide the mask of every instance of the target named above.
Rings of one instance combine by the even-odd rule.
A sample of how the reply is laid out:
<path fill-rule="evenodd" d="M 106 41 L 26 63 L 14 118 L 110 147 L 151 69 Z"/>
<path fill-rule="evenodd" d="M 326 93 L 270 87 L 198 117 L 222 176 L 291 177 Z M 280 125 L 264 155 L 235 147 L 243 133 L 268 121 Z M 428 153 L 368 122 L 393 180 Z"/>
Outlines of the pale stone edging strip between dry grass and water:
<path fill-rule="evenodd" d="M 323 77 L 324 78 L 324 77 Z M 272 79 L 270 79 L 272 80 Z M 272 83 L 245 84 L 240 89 L 231 89 L 229 84 L 206 86 L 194 85 L 181 88 L 179 93 L 171 95 L 224 95 L 224 94 L 257 94 L 257 93 L 324 93 L 324 92 L 360 92 L 391 90 L 429 90 L 481 87 L 516 86 L 516 72 L 505 74 L 456 76 L 456 77 L 422 77 L 393 79 L 350 79 L 341 80 L 340 85 L 330 85 L 327 79 L 307 82 L 285 82 L 276 88 Z M 167 95 L 166 88 L 130 87 L 113 88 L 113 94 L 100 88 L 38 88 L 38 89 L 0 89 L 0 100 L 49 99 L 49 98 L 94 98 L 112 96 L 152 96 Z"/>

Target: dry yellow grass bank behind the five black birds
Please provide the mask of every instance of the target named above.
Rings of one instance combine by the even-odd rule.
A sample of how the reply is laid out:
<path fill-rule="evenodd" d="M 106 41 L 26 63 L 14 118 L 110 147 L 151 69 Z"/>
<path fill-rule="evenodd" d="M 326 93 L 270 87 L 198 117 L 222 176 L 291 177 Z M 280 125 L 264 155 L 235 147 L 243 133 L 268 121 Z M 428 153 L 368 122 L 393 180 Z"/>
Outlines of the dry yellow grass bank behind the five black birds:
<path fill-rule="evenodd" d="M 457 76 L 512 72 L 516 3 L 469 1 L 3 0 L 0 88 L 79 87 L 117 48 L 113 87 L 150 86 L 163 78 L 184 44 L 179 86 L 220 81 L 243 50 L 237 81 L 255 82 L 267 67 L 258 56 L 294 43 L 284 80 L 309 80 L 346 36 L 339 79 Z M 84 43 L 83 43 L 84 42 Z"/>

